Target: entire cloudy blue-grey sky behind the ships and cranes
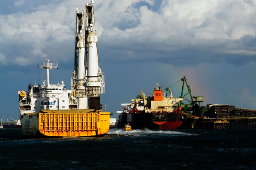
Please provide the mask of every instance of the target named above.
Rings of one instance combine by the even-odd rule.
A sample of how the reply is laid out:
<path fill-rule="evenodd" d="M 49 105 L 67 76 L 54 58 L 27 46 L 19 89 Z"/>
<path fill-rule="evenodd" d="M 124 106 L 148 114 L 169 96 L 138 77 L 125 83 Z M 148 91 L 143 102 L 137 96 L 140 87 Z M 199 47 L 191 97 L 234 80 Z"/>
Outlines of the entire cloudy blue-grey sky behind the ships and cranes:
<path fill-rule="evenodd" d="M 75 13 L 90 0 L 0 1 L 0 113 L 19 118 L 18 90 L 41 84 L 46 58 L 52 83 L 70 87 Z M 256 109 L 256 0 L 95 0 L 102 105 L 115 113 L 156 82 L 179 97 L 186 75 L 206 104 Z M 176 84 L 175 84 L 176 83 Z M 0 118 L 2 118 L 0 116 Z M 2 118 L 3 119 L 3 118 Z"/>

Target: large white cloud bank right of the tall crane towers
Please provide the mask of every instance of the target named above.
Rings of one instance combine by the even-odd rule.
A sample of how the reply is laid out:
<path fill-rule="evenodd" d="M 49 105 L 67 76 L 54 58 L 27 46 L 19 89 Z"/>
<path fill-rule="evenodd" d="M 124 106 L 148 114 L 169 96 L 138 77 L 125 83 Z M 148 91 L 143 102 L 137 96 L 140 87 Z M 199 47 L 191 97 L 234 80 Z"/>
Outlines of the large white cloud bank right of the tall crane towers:
<path fill-rule="evenodd" d="M 148 7 L 142 6 L 139 9 L 132 8 L 133 10 L 119 13 L 118 18 L 127 15 L 139 20 L 134 27 L 121 29 L 121 26 L 116 24 L 121 21 L 113 23 L 107 20 L 108 24 L 102 26 L 104 27 L 102 38 L 104 42 L 110 40 L 108 47 L 115 46 L 119 49 L 126 46 L 126 51 L 143 49 L 145 55 L 138 57 L 144 60 L 157 56 L 158 60 L 163 62 L 169 58 L 175 63 L 178 55 L 182 53 L 185 58 L 194 57 L 195 62 L 203 60 L 207 62 L 202 54 L 204 51 L 208 51 L 205 52 L 208 53 L 206 56 L 212 54 L 213 57 L 226 54 L 254 55 L 256 5 L 252 2 L 163 0 L 158 11 L 151 11 Z M 100 15 L 105 14 L 105 11 L 99 12 Z M 126 14 L 128 12 L 129 14 Z M 250 42 L 241 42 L 241 38 L 245 36 L 251 36 Z M 163 51 L 169 51 L 169 55 L 160 57 Z M 121 56 L 128 57 L 125 53 Z M 184 61 L 186 62 L 186 59 Z M 255 57 L 253 62 L 256 62 Z"/>

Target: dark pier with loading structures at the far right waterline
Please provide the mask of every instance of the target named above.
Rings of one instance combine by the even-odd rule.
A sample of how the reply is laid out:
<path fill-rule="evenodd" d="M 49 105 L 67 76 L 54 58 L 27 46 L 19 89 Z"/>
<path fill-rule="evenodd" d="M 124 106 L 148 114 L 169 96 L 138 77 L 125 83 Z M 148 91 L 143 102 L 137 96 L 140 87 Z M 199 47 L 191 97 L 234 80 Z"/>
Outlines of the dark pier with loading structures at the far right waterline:
<path fill-rule="evenodd" d="M 185 128 L 192 129 L 256 128 L 256 110 L 235 108 L 228 104 L 211 104 L 202 117 L 188 115 L 183 122 Z"/>

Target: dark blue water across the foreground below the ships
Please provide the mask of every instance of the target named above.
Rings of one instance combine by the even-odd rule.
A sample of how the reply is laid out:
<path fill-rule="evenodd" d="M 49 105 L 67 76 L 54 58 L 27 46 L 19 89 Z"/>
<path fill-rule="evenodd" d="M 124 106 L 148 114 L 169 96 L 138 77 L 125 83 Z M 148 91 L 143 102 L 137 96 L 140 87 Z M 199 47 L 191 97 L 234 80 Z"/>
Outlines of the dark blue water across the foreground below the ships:
<path fill-rule="evenodd" d="M 0 129 L 6 170 L 254 170 L 256 130 L 111 129 L 99 138 L 26 139 Z"/>

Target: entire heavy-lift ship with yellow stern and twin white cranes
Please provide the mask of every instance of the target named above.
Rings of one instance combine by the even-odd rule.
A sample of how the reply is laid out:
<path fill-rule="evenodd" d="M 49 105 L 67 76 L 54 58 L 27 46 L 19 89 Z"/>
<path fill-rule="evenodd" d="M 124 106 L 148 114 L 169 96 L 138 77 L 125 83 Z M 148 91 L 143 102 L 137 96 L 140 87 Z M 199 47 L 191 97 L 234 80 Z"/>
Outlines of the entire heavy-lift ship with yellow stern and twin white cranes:
<path fill-rule="evenodd" d="M 47 80 L 19 90 L 22 134 L 47 137 L 97 137 L 109 131 L 109 112 L 102 112 L 100 97 L 105 90 L 99 67 L 93 0 L 84 11 L 76 9 L 76 44 L 71 89 L 64 82 L 50 84 L 49 70 L 59 67 L 47 59 Z"/>

